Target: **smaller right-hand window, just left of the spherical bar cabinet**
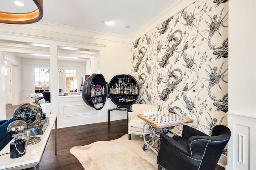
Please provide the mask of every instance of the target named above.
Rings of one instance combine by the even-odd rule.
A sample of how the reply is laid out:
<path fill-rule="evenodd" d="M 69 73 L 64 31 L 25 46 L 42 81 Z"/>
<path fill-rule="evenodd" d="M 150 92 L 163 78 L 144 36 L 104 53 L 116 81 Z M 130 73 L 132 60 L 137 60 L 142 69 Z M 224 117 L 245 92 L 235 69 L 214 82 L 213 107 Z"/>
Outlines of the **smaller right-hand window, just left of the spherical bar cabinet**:
<path fill-rule="evenodd" d="M 65 70 L 66 93 L 77 92 L 77 70 Z"/>

